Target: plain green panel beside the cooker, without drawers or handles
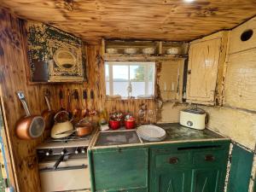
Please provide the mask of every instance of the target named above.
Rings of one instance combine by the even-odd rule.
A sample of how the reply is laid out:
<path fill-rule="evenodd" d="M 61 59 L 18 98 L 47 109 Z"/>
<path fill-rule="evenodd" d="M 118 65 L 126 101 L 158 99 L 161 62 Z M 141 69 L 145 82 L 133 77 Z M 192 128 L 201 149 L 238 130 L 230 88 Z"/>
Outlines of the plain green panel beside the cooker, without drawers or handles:
<path fill-rule="evenodd" d="M 92 152 L 95 191 L 148 188 L 148 148 L 107 148 Z"/>

